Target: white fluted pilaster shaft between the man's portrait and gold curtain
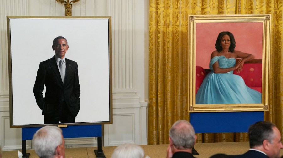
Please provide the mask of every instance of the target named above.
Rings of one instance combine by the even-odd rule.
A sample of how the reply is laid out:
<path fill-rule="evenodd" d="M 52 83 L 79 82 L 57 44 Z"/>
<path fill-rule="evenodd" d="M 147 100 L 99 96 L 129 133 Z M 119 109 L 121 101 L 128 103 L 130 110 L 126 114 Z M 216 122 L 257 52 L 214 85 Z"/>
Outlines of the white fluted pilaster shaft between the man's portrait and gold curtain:
<path fill-rule="evenodd" d="M 113 88 L 132 89 L 133 85 L 133 1 L 111 0 L 107 15 L 112 16 Z M 115 23 L 116 22 L 116 23 Z"/>

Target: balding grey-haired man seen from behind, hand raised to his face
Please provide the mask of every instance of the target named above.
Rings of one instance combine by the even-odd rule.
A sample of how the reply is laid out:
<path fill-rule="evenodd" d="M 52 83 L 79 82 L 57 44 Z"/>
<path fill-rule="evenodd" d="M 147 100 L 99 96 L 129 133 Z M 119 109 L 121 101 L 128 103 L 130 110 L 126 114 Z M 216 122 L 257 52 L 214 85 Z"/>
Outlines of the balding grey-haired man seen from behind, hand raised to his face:
<path fill-rule="evenodd" d="M 196 140 L 195 130 L 188 121 L 175 122 L 169 131 L 167 158 L 193 158 L 191 153 Z"/>

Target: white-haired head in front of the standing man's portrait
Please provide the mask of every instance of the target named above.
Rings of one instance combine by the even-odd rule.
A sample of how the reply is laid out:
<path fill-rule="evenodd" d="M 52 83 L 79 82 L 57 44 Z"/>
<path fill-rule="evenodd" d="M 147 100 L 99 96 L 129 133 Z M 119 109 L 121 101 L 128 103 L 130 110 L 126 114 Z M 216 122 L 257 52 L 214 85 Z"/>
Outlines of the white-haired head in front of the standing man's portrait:
<path fill-rule="evenodd" d="M 40 158 L 53 158 L 58 145 L 62 145 L 62 130 L 56 126 L 44 126 L 33 135 L 32 144 Z"/>

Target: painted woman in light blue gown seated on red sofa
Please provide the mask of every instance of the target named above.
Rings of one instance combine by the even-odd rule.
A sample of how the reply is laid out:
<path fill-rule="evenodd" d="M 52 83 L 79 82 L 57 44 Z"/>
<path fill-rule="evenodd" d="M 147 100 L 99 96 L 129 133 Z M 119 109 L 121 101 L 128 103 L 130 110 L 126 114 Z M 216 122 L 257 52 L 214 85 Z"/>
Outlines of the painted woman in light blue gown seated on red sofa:
<path fill-rule="evenodd" d="M 254 104 L 261 103 L 261 93 L 246 86 L 239 75 L 245 61 L 254 58 L 252 54 L 235 50 L 232 33 L 219 33 L 211 53 L 209 72 L 196 94 L 196 104 Z M 237 58 L 241 58 L 236 61 Z"/>

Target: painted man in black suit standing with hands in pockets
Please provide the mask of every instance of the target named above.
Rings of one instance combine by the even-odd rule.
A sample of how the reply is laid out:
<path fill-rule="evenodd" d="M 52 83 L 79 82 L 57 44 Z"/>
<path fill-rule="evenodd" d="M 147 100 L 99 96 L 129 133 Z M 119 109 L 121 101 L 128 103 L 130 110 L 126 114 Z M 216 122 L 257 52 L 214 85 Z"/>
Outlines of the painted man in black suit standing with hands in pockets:
<path fill-rule="evenodd" d="M 66 38 L 56 37 L 52 46 L 55 56 L 39 64 L 33 93 L 44 124 L 75 123 L 80 110 L 78 64 L 65 58 L 68 48 Z"/>

